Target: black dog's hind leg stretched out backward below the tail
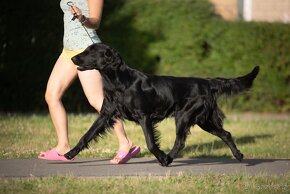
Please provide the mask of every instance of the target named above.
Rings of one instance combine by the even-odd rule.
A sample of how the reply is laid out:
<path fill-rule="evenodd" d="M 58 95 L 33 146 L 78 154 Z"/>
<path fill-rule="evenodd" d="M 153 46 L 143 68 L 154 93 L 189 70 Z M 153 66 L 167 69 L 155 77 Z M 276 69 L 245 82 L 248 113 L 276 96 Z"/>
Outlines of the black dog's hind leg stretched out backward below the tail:
<path fill-rule="evenodd" d="M 221 138 L 231 149 L 235 158 L 239 161 L 242 161 L 244 155 L 237 149 L 236 144 L 233 141 L 232 135 L 230 132 L 226 131 L 222 127 L 222 123 L 216 123 L 213 119 L 206 120 L 202 124 L 198 124 L 203 130 L 218 136 Z"/>

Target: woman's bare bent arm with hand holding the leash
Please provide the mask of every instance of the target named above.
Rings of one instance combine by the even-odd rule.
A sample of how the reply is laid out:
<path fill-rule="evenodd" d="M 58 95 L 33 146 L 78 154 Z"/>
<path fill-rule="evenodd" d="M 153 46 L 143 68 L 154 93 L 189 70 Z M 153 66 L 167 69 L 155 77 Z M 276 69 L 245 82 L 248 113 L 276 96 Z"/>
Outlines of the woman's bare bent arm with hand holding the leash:
<path fill-rule="evenodd" d="M 73 6 L 74 11 L 77 14 L 78 20 L 87 28 L 98 29 L 102 19 L 103 12 L 103 0 L 87 0 L 89 8 L 89 16 L 82 15 L 82 11 Z M 71 10 L 73 13 L 73 10 Z"/>

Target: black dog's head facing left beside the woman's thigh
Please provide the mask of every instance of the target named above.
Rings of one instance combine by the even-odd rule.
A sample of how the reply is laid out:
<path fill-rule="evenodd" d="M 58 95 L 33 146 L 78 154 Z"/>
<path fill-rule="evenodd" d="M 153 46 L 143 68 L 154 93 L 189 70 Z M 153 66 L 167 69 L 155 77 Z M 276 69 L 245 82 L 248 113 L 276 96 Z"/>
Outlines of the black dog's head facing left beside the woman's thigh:
<path fill-rule="evenodd" d="M 102 43 L 92 44 L 82 53 L 72 57 L 72 61 L 78 66 L 80 71 L 90 69 L 102 71 L 106 68 L 117 68 L 122 63 L 119 53 Z"/>

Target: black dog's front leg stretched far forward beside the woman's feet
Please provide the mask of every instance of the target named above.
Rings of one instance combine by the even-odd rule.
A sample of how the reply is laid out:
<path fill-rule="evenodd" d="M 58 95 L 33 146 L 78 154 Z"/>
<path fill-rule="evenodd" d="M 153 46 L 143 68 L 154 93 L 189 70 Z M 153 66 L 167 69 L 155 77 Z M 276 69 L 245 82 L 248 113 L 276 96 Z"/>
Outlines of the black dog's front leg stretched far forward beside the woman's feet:
<path fill-rule="evenodd" d="M 64 156 L 67 159 L 73 159 L 80 151 L 88 148 L 88 144 L 91 140 L 97 139 L 101 134 L 104 134 L 106 130 L 113 127 L 115 120 L 112 119 L 112 115 L 100 114 L 99 118 L 93 123 L 86 134 L 79 140 L 78 144 L 71 149 Z"/>

